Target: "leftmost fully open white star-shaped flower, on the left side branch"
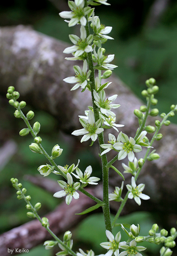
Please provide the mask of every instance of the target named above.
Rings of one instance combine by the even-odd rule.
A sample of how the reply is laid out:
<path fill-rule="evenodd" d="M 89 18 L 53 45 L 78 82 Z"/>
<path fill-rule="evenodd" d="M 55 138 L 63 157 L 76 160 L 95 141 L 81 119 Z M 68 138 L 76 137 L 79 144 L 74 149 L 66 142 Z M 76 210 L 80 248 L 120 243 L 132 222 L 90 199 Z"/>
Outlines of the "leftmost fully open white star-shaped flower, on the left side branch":
<path fill-rule="evenodd" d="M 53 196 L 54 197 L 64 197 L 66 196 L 66 204 L 70 204 L 72 198 L 78 199 L 79 193 L 76 192 L 76 190 L 80 187 L 80 183 L 76 182 L 73 185 L 73 178 L 70 173 L 67 173 L 67 181 L 68 184 L 65 181 L 58 181 L 60 187 L 64 188 L 64 190 L 56 192 Z"/>

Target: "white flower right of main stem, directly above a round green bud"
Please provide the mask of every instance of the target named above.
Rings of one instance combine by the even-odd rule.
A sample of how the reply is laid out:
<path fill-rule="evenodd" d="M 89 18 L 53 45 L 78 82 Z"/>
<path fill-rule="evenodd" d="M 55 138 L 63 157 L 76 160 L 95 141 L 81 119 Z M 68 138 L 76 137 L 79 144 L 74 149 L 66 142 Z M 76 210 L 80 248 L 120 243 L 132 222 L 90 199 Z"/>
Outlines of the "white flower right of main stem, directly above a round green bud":
<path fill-rule="evenodd" d="M 109 64 L 109 62 L 113 61 L 114 54 L 110 54 L 108 56 L 103 55 L 101 47 L 98 49 L 98 52 L 96 53 L 95 47 L 93 49 L 93 61 L 97 62 L 98 64 L 94 66 L 95 69 L 98 70 L 112 70 L 114 68 L 117 68 L 117 66 L 113 64 Z"/>

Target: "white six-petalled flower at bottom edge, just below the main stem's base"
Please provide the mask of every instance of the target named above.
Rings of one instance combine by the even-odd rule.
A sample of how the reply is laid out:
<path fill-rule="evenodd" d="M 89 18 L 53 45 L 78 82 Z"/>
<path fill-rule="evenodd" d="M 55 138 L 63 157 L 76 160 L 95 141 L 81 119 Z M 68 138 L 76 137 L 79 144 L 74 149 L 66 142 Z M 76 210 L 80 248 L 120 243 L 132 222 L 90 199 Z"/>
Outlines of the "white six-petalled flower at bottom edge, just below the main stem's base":
<path fill-rule="evenodd" d="M 109 242 L 100 243 L 103 248 L 109 250 L 104 256 L 111 256 L 113 253 L 115 256 L 118 256 L 120 246 L 126 244 L 126 242 L 120 242 L 120 232 L 118 232 L 114 238 L 113 234 L 109 230 L 106 230 L 106 236 Z"/>

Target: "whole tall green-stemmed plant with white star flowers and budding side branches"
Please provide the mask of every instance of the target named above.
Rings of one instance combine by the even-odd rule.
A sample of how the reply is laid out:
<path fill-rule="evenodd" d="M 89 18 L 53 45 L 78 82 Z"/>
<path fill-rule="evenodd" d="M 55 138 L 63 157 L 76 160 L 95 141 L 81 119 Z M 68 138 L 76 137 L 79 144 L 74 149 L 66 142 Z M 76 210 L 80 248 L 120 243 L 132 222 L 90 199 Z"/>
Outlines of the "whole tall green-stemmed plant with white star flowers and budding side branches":
<path fill-rule="evenodd" d="M 102 47 L 107 40 L 112 40 L 108 34 L 111 32 L 112 27 L 104 26 L 100 23 L 98 16 L 95 16 L 95 10 L 92 8 L 94 5 L 110 5 L 107 0 L 75 0 L 68 1 L 68 5 L 71 11 L 63 11 L 59 15 L 65 18 L 65 22 L 68 23 L 69 27 L 78 26 L 80 28 L 80 36 L 71 34 L 69 35 L 71 43 L 73 46 L 67 47 L 64 50 L 65 54 L 72 54 L 72 57 L 66 57 L 67 60 L 80 60 L 83 62 L 82 68 L 79 66 L 73 66 L 75 76 L 69 76 L 64 79 L 66 83 L 75 84 L 72 90 L 79 89 L 81 92 L 89 90 L 92 96 L 92 106 L 88 106 L 89 110 L 85 110 L 85 116 L 80 116 L 79 121 L 81 124 L 81 129 L 72 132 L 74 136 L 82 136 L 81 143 L 85 141 L 90 141 L 91 146 L 93 143 L 99 143 L 98 154 L 101 157 L 102 163 L 102 184 L 103 184 L 103 199 L 100 200 L 95 196 L 88 193 L 84 187 L 88 184 L 97 185 L 99 178 L 92 176 L 94 170 L 91 166 L 88 166 L 85 171 L 79 169 L 79 161 L 77 165 L 73 163 L 71 166 L 57 166 L 54 159 L 60 157 L 63 149 L 57 144 L 52 148 L 51 154 L 49 155 L 42 146 L 42 138 L 38 136 L 40 131 L 40 124 L 35 122 L 33 126 L 30 125 L 29 120 L 34 116 L 33 111 L 29 111 L 25 116 L 22 112 L 22 108 L 25 107 L 25 101 L 17 101 L 19 98 L 19 93 L 15 91 L 13 86 L 10 86 L 7 90 L 7 98 L 9 103 L 16 108 L 14 113 L 16 118 L 22 118 L 27 128 L 23 128 L 19 134 L 20 136 L 26 136 L 29 132 L 34 138 L 34 142 L 31 143 L 30 150 L 34 153 L 43 154 L 46 156 L 49 163 L 41 165 L 38 167 L 38 171 L 43 176 L 48 176 L 51 173 L 59 174 L 59 177 L 63 176 L 66 181 L 58 180 L 59 186 L 63 189 L 56 192 L 53 196 L 57 198 L 65 197 L 66 204 L 70 204 L 71 200 L 79 200 L 79 193 L 84 193 L 86 196 L 90 197 L 95 201 L 95 206 L 86 209 L 82 214 L 94 211 L 98 207 L 102 208 L 105 230 L 107 236 L 107 242 L 102 242 L 100 246 L 105 248 L 106 256 L 123 256 L 123 255 L 136 255 L 142 256 L 142 251 L 146 250 L 146 247 L 137 245 L 143 241 L 150 243 L 160 244 L 163 246 L 160 250 L 160 256 L 170 256 L 172 255 L 171 248 L 175 246 L 175 238 L 177 237 L 177 231 L 172 228 L 170 231 L 170 236 L 167 236 L 167 231 L 161 229 L 158 233 L 158 225 L 154 224 L 149 230 L 147 236 L 140 236 L 140 226 L 135 226 L 133 223 L 129 227 L 129 231 L 121 224 L 123 232 L 127 234 L 127 240 L 121 241 L 121 233 L 118 232 L 114 237 L 112 234 L 112 229 L 117 224 L 117 219 L 122 212 L 128 199 L 135 200 L 138 205 L 141 205 L 141 200 L 150 200 L 148 195 L 142 193 L 145 184 L 137 183 L 137 179 L 142 170 L 142 167 L 146 160 L 156 160 L 160 156 L 153 150 L 153 142 L 155 140 L 162 139 L 162 134 L 159 133 L 162 125 L 170 125 L 168 117 L 174 116 L 175 111 L 177 111 L 177 105 L 171 105 L 171 111 L 168 114 L 162 113 L 162 121 L 158 119 L 155 120 L 155 125 L 147 125 L 146 121 L 148 116 L 157 116 L 159 110 L 157 108 L 152 108 L 157 104 L 157 99 L 154 95 L 158 92 L 159 87 L 156 85 L 156 81 L 150 78 L 146 81 L 147 89 L 142 91 L 142 95 L 146 98 L 147 104 L 142 105 L 140 109 L 134 110 L 134 115 L 139 120 L 139 127 L 137 128 L 134 137 L 128 137 L 124 132 L 119 132 L 117 127 L 123 127 L 122 124 L 116 124 L 116 115 L 114 109 L 120 107 L 119 104 L 113 103 L 117 98 L 117 95 L 110 97 L 106 96 L 106 88 L 111 84 L 111 82 L 102 82 L 102 79 L 108 79 L 112 70 L 116 68 L 114 64 L 110 63 L 114 60 L 114 54 L 106 55 L 106 49 Z M 84 96 L 83 96 L 84 97 Z M 113 128 L 113 129 L 112 129 Z M 108 144 L 104 143 L 104 131 L 106 129 L 112 129 L 112 133 L 109 133 Z M 148 133 L 152 133 L 153 136 L 149 141 Z M 144 158 L 138 159 L 136 153 L 142 151 L 142 147 L 146 148 L 146 153 Z M 110 161 L 107 160 L 107 154 L 113 150 L 117 152 L 116 156 Z M 124 186 L 122 182 L 120 187 L 115 187 L 112 194 L 109 194 L 109 169 L 115 170 L 117 175 L 120 175 L 123 180 L 124 175 L 122 171 L 117 170 L 113 165 L 116 161 L 124 160 L 128 158 L 128 166 L 122 163 L 125 173 L 130 173 L 132 175 L 131 184 Z M 77 182 L 73 181 L 77 179 Z M 22 188 L 22 184 L 18 183 L 15 178 L 11 179 L 13 186 L 17 189 L 17 198 L 24 199 L 27 203 L 26 207 L 29 210 L 27 215 L 29 217 L 36 217 L 41 224 L 48 230 L 52 235 L 54 240 L 45 241 L 44 245 L 46 249 L 50 249 L 57 245 L 61 249 L 56 255 L 66 256 L 94 256 L 92 250 L 86 253 L 78 248 L 79 252 L 74 252 L 73 240 L 71 239 L 71 232 L 66 231 L 63 236 L 63 241 L 59 239 L 49 228 L 49 222 L 46 217 L 42 219 L 37 214 L 37 211 L 41 208 L 40 203 L 36 203 L 34 206 L 31 204 L 30 196 L 25 196 L 26 188 Z M 136 185 L 138 184 L 138 185 Z M 126 195 L 122 196 L 122 190 L 127 190 Z M 120 207 L 115 214 L 113 221 L 110 218 L 110 206 L 109 201 L 121 202 Z"/>

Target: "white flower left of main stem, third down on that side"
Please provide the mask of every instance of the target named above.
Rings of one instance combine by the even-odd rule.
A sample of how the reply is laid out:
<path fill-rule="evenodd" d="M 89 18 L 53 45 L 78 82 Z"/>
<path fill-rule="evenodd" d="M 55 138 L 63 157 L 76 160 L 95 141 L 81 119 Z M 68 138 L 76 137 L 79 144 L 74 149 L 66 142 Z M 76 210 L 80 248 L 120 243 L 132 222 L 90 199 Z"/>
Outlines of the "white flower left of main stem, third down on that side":
<path fill-rule="evenodd" d="M 74 66 L 73 68 L 76 75 L 66 77 L 65 79 L 63 79 L 63 81 L 69 84 L 77 83 L 75 84 L 75 86 L 73 86 L 73 88 L 71 88 L 71 91 L 76 90 L 77 88 L 79 88 L 79 86 L 81 86 L 81 88 L 84 89 L 87 86 L 87 82 L 88 82 L 87 79 L 89 78 L 91 73 L 91 70 L 87 72 L 87 69 L 88 69 L 87 61 L 84 60 L 82 70 L 79 66 Z"/>

